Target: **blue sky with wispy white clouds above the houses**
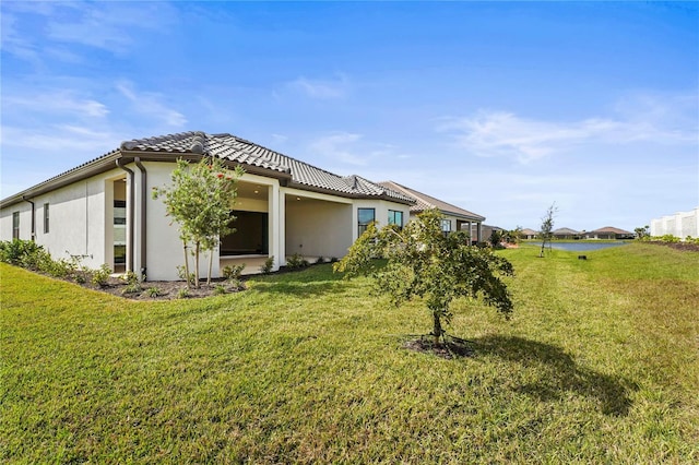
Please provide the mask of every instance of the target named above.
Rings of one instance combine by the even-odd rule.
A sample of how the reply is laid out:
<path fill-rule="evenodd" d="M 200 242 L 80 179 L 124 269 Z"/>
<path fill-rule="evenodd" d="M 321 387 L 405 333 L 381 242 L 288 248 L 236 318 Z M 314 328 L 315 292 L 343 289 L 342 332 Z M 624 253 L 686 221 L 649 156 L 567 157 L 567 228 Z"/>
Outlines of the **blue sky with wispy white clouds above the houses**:
<path fill-rule="evenodd" d="M 536 229 L 699 205 L 695 2 L 0 3 L 1 198 L 229 132 Z"/>

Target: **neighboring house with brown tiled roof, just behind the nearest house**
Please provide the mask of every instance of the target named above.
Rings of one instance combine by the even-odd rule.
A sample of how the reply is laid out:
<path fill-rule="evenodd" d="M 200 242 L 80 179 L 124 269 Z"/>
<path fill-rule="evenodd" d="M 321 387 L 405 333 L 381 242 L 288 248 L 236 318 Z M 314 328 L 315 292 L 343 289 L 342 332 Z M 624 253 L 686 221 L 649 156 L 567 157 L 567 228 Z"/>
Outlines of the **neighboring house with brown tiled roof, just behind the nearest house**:
<path fill-rule="evenodd" d="M 485 216 L 469 212 L 460 206 L 443 202 L 431 195 L 416 191 L 415 189 L 406 188 L 405 186 L 399 184 L 394 181 L 383 181 L 379 182 L 379 184 L 417 201 L 413 206 L 411 206 L 412 218 L 416 217 L 425 210 L 437 208 L 442 215 L 445 215 L 445 218 L 442 219 L 442 230 L 445 233 L 465 230 L 474 242 L 484 240 L 484 238 L 487 240 L 487 238 L 490 237 L 489 234 L 486 235 L 483 231 L 483 222 L 485 220 Z"/>

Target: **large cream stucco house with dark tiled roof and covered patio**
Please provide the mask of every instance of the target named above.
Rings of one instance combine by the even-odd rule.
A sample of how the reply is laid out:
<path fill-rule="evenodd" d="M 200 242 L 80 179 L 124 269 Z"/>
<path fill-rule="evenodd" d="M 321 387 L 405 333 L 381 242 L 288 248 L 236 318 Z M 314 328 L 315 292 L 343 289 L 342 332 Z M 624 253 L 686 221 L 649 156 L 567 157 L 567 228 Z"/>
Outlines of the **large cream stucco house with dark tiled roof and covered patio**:
<path fill-rule="evenodd" d="M 227 264 L 256 272 L 269 257 L 343 257 L 366 225 L 407 220 L 408 194 L 359 176 L 342 177 L 232 134 L 182 132 L 126 141 L 93 160 L 0 201 L 0 240 L 34 239 L 54 258 L 90 267 L 177 279 L 182 245 L 154 187 L 168 186 L 178 158 L 241 166 L 233 206 L 237 233 L 221 238 L 214 276 Z M 202 260 L 205 274 L 208 260 Z"/>

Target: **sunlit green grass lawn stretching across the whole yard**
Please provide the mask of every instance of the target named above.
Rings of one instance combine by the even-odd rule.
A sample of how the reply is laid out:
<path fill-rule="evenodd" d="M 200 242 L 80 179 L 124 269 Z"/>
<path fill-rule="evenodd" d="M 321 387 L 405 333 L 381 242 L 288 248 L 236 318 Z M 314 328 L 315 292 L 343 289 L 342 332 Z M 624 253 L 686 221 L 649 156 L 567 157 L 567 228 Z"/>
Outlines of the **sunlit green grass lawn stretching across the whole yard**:
<path fill-rule="evenodd" d="M 699 462 L 699 253 L 537 252 L 499 252 L 511 321 L 459 302 L 451 360 L 330 265 L 137 302 L 0 264 L 0 461 Z"/>

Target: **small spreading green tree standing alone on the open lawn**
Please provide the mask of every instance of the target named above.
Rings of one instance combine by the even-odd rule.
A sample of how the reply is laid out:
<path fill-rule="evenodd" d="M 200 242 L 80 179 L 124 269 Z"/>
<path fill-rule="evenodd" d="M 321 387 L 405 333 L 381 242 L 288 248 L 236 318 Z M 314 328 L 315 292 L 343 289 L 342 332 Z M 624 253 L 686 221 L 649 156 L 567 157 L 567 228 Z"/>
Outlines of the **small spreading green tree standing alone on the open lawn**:
<path fill-rule="evenodd" d="M 500 275 L 512 275 L 512 264 L 488 248 L 469 246 L 469 235 L 441 230 L 437 210 L 423 213 L 401 230 L 395 225 L 377 229 L 375 224 L 333 265 L 345 277 L 372 272 L 376 288 L 390 296 L 394 306 L 423 298 L 433 317 L 435 344 L 443 341 L 442 321 L 451 321 L 451 303 L 459 297 L 483 298 L 506 318 L 512 301 Z M 378 267 L 376 259 L 388 263 Z"/>

